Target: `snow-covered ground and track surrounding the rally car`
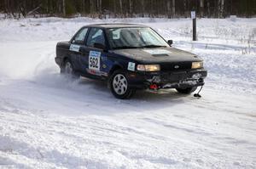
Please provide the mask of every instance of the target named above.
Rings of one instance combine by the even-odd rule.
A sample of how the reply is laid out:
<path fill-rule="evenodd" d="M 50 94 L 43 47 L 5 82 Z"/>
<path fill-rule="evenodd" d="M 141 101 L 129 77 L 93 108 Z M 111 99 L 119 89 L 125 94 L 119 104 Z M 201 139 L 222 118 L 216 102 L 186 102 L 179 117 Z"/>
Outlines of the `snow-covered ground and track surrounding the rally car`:
<path fill-rule="evenodd" d="M 209 71 L 202 98 L 114 99 L 59 76 L 55 44 L 90 23 L 152 26 Z M 256 19 L 0 20 L 0 168 L 256 168 Z"/>

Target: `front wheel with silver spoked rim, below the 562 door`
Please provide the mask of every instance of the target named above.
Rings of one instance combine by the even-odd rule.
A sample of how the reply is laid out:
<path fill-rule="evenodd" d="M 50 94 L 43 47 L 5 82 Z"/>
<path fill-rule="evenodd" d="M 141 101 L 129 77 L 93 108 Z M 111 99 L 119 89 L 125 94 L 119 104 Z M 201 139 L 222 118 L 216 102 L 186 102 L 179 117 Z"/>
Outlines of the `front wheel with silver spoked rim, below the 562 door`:
<path fill-rule="evenodd" d="M 131 89 L 124 70 L 115 70 L 110 77 L 109 86 L 113 96 L 117 99 L 131 99 L 136 92 Z"/>

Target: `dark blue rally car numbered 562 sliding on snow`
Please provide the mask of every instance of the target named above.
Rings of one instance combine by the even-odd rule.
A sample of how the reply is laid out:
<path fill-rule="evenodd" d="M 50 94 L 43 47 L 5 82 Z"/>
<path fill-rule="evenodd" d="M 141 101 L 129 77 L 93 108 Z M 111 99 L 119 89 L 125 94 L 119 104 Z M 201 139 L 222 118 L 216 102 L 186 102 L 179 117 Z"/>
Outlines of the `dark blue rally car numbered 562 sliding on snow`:
<path fill-rule="evenodd" d="M 63 74 L 108 81 L 118 99 L 131 98 L 137 89 L 189 94 L 207 76 L 202 59 L 172 48 L 172 40 L 145 25 L 86 25 L 69 42 L 57 43 L 55 62 Z"/>

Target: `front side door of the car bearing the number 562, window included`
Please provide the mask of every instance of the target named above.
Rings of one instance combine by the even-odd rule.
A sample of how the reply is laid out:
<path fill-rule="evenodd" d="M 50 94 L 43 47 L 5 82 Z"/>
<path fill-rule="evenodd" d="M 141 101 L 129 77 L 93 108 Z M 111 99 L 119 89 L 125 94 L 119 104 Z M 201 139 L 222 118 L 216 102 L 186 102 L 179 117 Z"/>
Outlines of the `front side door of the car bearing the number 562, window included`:
<path fill-rule="evenodd" d="M 96 43 L 106 47 L 104 32 L 101 28 L 91 27 L 86 38 L 85 46 L 81 48 L 80 63 L 84 65 L 86 72 L 93 76 L 102 76 L 102 48 L 96 48 Z"/>

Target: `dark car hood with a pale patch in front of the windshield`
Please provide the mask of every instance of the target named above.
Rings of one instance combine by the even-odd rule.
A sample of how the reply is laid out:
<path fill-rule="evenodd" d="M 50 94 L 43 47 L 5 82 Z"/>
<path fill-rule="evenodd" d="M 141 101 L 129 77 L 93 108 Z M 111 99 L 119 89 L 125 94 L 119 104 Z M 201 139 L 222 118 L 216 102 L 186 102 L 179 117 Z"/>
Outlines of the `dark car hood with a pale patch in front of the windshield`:
<path fill-rule="evenodd" d="M 131 48 L 113 50 L 112 52 L 129 59 L 135 59 L 143 64 L 201 60 L 195 54 L 177 48 Z"/>

